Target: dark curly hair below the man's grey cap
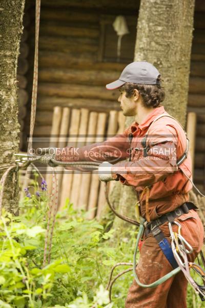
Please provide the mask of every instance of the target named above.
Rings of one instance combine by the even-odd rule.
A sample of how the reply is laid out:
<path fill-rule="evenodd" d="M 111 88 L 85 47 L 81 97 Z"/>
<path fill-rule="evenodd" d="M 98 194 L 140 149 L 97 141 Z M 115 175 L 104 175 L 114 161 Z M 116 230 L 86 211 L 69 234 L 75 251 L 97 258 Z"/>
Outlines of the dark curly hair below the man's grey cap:
<path fill-rule="evenodd" d="M 160 75 L 158 76 L 157 81 L 161 81 Z M 158 107 L 158 105 L 165 99 L 165 91 L 159 84 L 144 85 L 126 82 L 120 89 L 126 91 L 127 98 L 131 98 L 133 90 L 137 89 L 142 97 L 145 107 Z"/>

